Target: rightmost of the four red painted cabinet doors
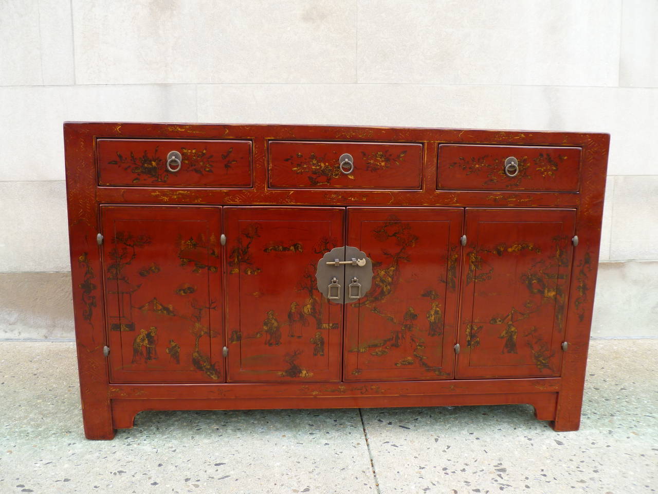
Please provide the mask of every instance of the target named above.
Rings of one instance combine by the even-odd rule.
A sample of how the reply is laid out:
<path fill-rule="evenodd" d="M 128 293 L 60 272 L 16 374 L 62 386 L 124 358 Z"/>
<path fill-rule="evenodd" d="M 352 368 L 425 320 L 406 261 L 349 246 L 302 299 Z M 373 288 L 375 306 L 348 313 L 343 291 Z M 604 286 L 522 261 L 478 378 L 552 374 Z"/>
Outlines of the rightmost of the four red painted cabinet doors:
<path fill-rule="evenodd" d="M 574 209 L 467 209 L 457 377 L 560 373 Z"/>

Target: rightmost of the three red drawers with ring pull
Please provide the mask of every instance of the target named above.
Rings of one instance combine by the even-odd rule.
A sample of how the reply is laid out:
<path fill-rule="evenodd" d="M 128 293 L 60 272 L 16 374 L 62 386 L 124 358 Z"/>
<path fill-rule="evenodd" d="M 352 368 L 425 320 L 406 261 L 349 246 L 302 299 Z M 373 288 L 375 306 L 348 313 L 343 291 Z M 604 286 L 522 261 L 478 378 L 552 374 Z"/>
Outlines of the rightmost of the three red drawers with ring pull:
<path fill-rule="evenodd" d="M 577 192 L 579 172 L 580 148 L 443 144 L 437 188 Z"/>

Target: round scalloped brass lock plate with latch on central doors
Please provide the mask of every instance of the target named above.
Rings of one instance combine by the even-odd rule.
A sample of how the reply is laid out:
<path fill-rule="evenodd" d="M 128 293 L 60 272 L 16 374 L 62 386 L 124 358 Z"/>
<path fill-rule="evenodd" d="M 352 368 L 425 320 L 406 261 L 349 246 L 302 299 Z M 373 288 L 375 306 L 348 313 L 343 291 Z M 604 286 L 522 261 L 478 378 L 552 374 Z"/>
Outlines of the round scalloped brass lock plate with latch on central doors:
<path fill-rule="evenodd" d="M 372 261 L 356 247 L 336 247 L 318 261 L 315 278 L 324 298 L 350 304 L 370 290 Z"/>

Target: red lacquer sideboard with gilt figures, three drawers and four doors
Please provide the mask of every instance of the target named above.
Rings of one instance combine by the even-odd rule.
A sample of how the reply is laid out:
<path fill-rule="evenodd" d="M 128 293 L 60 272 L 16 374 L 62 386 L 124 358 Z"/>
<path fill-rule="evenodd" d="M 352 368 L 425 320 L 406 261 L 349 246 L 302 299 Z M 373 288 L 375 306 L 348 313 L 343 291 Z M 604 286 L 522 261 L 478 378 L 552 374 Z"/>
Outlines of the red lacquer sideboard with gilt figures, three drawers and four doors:
<path fill-rule="evenodd" d="M 608 134 L 64 123 L 84 429 L 532 404 L 578 429 Z"/>

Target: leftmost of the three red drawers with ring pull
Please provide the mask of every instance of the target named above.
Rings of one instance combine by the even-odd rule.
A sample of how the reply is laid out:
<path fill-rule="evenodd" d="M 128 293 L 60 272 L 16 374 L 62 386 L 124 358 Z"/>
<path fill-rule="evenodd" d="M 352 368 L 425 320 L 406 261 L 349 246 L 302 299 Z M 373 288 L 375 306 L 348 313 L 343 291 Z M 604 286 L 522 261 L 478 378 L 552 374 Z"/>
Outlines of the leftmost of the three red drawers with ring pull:
<path fill-rule="evenodd" d="M 117 186 L 251 187 L 251 141 L 97 140 L 98 182 Z M 172 151 L 179 161 L 168 160 Z"/>

